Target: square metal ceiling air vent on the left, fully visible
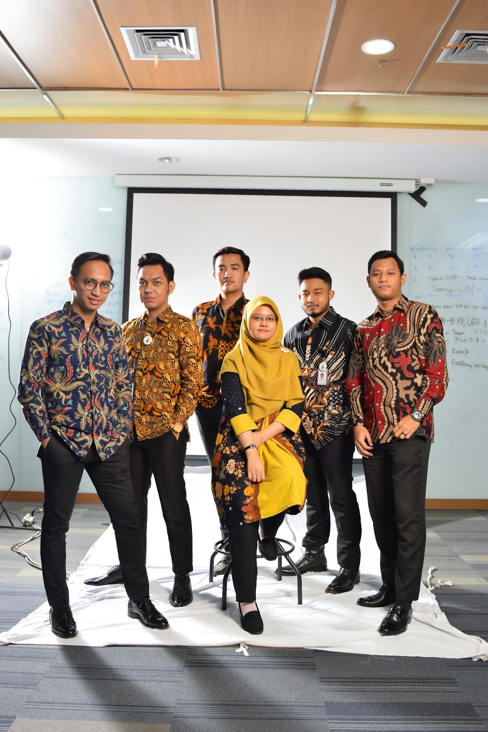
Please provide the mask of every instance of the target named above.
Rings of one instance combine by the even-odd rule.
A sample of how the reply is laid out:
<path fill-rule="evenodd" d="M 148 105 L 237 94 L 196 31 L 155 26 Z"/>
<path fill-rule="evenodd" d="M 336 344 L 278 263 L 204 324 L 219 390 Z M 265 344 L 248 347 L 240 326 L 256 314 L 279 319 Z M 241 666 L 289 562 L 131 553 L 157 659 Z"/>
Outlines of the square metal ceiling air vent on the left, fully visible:
<path fill-rule="evenodd" d="M 196 26 L 177 28 L 121 27 L 132 61 L 199 61 L 200 48 Z"/>

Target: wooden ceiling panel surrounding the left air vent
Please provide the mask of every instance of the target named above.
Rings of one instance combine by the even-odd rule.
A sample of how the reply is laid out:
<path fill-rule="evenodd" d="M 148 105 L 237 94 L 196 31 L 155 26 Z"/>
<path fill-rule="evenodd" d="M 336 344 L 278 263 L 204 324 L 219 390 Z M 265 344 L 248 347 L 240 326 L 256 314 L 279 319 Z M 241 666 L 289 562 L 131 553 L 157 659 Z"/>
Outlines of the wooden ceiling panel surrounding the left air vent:
<path fill-rule="evenodd" d="M 110 37 L 135 89 L 219 89 L 210 0 L 98 0 Z M 197 26 L 200 61 L 132 61 L 121 26 Z"/>

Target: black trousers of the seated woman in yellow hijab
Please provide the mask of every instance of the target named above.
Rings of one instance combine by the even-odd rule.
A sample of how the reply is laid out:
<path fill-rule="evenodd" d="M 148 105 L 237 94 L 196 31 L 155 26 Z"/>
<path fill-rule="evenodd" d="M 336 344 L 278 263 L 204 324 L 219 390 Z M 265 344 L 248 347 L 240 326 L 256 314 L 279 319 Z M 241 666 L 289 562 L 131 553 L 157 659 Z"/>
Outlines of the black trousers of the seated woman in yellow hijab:
<path fill-rule="evenodd" d="M 243 523 L 241 526 L 233 526 L 228 529 L 232 580 L 237 602 L 254 602 L 256 599 L 256 581 L 258 579 L 256 549 L 258 548 L 259 528 L 261 527 L 263 536 L 276 537 L 284 518 L 285 511 L 276 516 L 252 523 Z"/>

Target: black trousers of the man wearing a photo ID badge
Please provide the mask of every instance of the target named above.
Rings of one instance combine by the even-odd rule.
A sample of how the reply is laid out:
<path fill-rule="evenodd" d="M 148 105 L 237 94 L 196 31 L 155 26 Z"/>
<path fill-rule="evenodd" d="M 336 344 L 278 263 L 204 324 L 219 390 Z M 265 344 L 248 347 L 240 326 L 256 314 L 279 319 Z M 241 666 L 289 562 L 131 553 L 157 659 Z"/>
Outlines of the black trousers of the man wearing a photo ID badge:
<path fill-rule="evenodd" d="M 331 509 L 337 526 L 337 561 L 345 569 L 359 569 L 361 514 L 353 490 L 354 439 L 342 433 L 333 442 L 317 449 L 301 430 L 306 458 L 307 534 L 304 548 L 319 547 L 329 541 Z M 328 496 L 329 493 L 329 496 Z"/>

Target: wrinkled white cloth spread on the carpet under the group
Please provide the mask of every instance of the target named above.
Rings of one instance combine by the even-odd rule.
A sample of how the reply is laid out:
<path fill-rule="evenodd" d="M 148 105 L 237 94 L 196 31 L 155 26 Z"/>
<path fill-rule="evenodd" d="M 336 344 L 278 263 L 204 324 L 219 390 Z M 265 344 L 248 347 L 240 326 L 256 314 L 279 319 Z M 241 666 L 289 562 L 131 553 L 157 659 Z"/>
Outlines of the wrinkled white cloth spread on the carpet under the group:
<path fill-rule="evenodd" d="M 75 638 L 57 638 L 50 630 L 48 603 L 34 610 L 11 630 L 0 634 L 0 643 L 70 646 L 237 646 L 244 643 L 252 654 L 252 636 L 241 629 L 239 609 L 231 582 L 228 610 L 222 611 L 222 578 L 209 583 L 209 559 L 219 539 L 219 520 L 210 490 L 209 468 L 187 468 L 187 494 L 194 526 L 195 570 L 192 572 L 194 600 L 185 608 L 172 608 L 169 598 L 173 572 L 157 490 L 149 491 L 148 561 L 150 595 L 157 609 L 168 618 L 170 628 L 151 630 L 127 617 L 127 594 L 122 585 L 89 587 L 83 580 L 105 572 L 117 563 L 113 529 L 105 531 L 91 546 L 68 582 L 70 603 L 78 625 Z M 413 620 L 407 632 L 382 638 L 378 626 L 388 608 L 360 608 L 358 597 L 378 591 L 379 553 L 367 512 L 364 480 L 356 479 L 363 519 L 361 539 L 361 582 L 353 591 L 331 595 L 324 590 L 334 578 L 336 535 L 333 523 L 326 555 L 332 572 L 308 573 L 303 578 L 304 602 L 297 604 L 296 578 L 277 581 L 275 563 L 258 560 L 258 605 L 264 632 L 258 645 L 271 648 L 307 648 L 341 653 L 438 658 L 485 657 L 488 643 L 457 630 L 440 610 L 435 596 L 421 587 L 413 603 Z M 296 545 L 293 559 L 301 556 L 300 540 L 306 517 L 289 516 L 279 537 Z M 295 538 L 294 538 L 295 537 Z M 298 537 L 298 538 L 297 538 Z M 428 559 L 428 558 L 427 558 Z M 432 562 L 431 562 L 432 564 Z M 19 571 L 23 564 L 19 559 Z M 439 575 L 442 573 L 440 567 Z M 20 608 L 19 608 L 20 609 Z M 242 654 L 236 654 L 236 662 Z"/>

